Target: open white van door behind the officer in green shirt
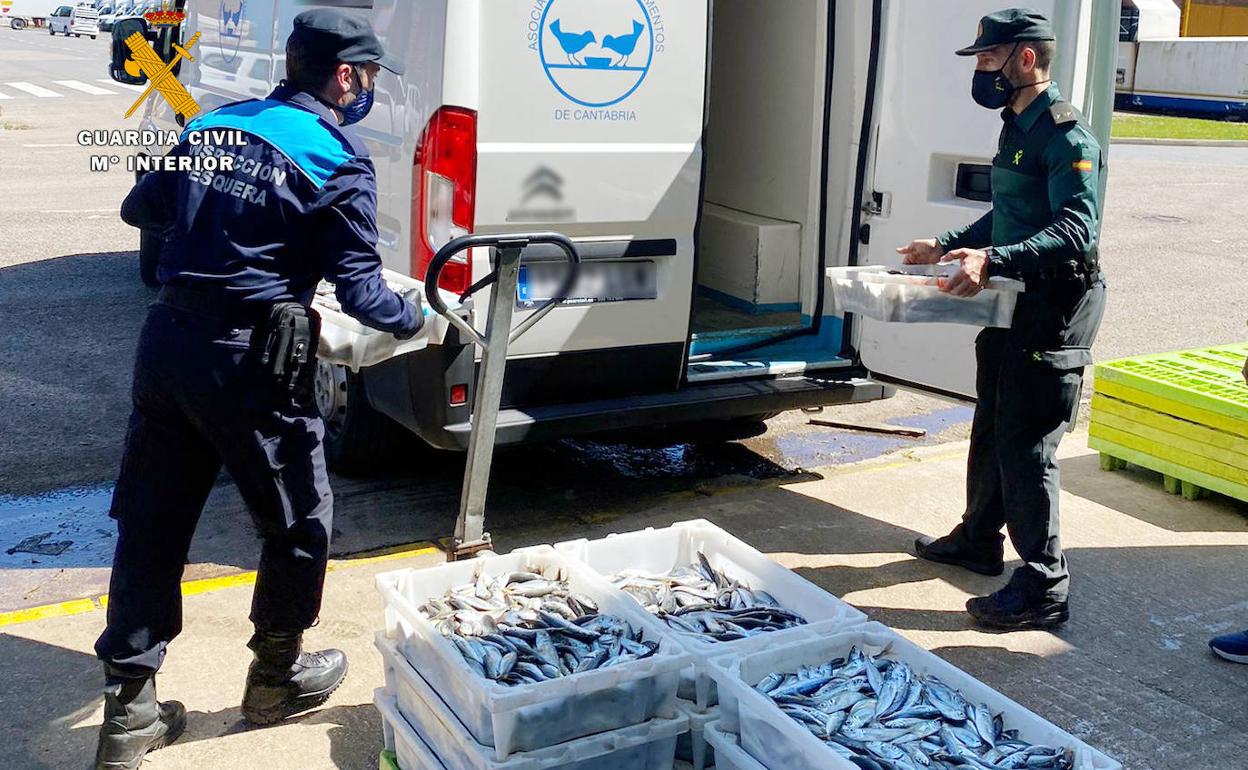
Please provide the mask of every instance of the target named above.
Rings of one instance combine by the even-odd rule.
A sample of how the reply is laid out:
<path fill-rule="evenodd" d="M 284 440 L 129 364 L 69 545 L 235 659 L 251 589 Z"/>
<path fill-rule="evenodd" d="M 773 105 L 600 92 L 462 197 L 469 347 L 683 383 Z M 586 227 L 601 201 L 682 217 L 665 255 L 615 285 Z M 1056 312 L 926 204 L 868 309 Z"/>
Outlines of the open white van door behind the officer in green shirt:
<path fill-rule="evenodd" d="M 1102 129 L 1108 126 L 1113 69 L 1102 65 L 1117 51 L 1117 4 L 1031 5 L 1057 30 L 1053 76 L 1062 95 L 1083 111 L 1107 146 L 1108 131 Z M 1094 5 L 1113 5 L 1112 14 Z M 859 247 L 859 265 L 899 265 L 899 246 L 970 223 L 990 210 L 988 173 L 1001 117 L 971 100 L 975 59 L 953 51 L 975 39 L 981 16 L 1000 7 L 998 0 L 963 0 L 953 7 L 929 0 L 884 2 L 872 160 L 864 188 L 869 242 Z M 852 343 L 877 379 L 973 399 L 977 332 L 855 317 Z"/>

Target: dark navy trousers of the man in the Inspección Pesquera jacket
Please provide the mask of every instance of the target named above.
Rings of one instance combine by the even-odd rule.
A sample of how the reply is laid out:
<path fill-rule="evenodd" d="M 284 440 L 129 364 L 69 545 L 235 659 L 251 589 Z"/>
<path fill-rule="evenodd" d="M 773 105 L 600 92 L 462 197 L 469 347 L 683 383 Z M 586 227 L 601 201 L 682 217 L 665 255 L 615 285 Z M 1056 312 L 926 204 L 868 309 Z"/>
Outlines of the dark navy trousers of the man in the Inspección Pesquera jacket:
<path fill-rule="evenodd" d="M 252 623 L 302 631 L 319 613 L 333 517 L 324 427 L 311 383 L 298 396 L 278 389 L 250 338 L 162 305 L 149 312 L 112 498 L 109 620 L 95 645 L 114 676 L 155 673 L 181 631 L 182 568 L 222 465 L 262 542 Z"/>

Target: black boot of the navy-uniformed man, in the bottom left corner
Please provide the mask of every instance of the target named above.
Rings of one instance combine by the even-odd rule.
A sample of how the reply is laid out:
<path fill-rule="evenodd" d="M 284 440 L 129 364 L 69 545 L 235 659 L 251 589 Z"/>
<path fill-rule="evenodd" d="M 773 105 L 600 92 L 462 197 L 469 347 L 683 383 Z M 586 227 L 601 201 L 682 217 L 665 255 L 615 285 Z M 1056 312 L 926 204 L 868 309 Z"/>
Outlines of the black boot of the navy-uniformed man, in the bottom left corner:
<path fill-rule="evenodd" d="M 156 678 L 114 680 L 104 688 L 104 724 L 95 770 L 136 770 L 149 751 L 170 745 L 186 729 L 186 709 L 156 700 Z"/>

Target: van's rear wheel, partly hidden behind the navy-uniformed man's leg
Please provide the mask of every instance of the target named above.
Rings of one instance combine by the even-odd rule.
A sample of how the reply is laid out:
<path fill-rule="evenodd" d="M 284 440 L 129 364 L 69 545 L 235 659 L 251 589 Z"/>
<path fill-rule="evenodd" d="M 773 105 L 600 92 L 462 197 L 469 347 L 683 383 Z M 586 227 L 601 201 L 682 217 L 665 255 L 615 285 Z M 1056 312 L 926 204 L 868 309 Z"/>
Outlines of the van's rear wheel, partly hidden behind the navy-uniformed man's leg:
<path fill-rule="evenodd" d="M 324 421 L 324 456 L 342 475 L 369 475 L 387 465 L 409 439 L 368 403 L 363 378 L 343 366 L 317 362 L 316 407 Z"/>

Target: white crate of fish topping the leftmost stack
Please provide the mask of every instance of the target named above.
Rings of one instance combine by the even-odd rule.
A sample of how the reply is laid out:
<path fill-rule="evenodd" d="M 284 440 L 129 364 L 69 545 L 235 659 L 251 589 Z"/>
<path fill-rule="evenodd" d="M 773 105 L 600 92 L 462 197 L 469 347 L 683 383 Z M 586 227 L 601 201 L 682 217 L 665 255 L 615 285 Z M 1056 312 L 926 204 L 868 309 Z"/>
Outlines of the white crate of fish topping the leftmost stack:
<path fill-rule="evenodd" d="M 676 715 L 680 645 L 550 548 L 377 577 L 386 633 L 498 760 Z"/>

